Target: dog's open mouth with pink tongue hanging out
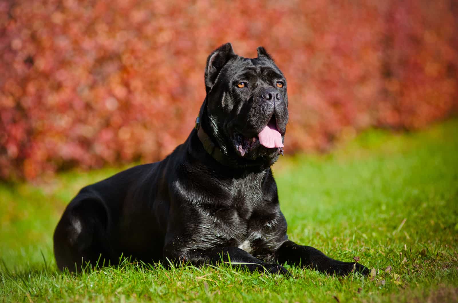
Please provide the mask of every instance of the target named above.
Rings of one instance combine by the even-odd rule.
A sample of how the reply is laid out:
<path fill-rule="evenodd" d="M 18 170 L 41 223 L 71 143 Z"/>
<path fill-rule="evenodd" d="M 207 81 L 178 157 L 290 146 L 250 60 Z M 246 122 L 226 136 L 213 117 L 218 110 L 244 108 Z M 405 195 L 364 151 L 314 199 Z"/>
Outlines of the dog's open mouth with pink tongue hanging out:
<path fill-rule="evenodd" d="M 234 146 L 240 157 L 256 157 L 252 151 L 259 149 L 264 150 L 263 154 L 283 155 L 282 135 L 277 129 L 275 117 L 255 137 L 247 138 L 240 133 L 236 134 Z"/>

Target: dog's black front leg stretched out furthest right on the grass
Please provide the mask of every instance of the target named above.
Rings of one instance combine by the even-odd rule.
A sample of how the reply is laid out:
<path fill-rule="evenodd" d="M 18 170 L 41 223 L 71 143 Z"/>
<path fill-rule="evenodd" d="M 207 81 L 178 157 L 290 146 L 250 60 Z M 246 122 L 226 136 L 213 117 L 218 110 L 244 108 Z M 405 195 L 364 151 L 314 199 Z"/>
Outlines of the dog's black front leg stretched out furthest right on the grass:
<path fill-rule="evenodd" d="M 298 245 L 293 241 L 284 242 L 276 253 L 277 261 L 280 264 L 288 262 L 291 265 L 301 265 L 302 267 L 321 271 L 327 274 L 339 276 L 348 275 L 356 270 L 367 276 L 370 271 L 364 265 L 355 262 L 342 262 L 329 258 L 316 248 L 311 246 Z"/>

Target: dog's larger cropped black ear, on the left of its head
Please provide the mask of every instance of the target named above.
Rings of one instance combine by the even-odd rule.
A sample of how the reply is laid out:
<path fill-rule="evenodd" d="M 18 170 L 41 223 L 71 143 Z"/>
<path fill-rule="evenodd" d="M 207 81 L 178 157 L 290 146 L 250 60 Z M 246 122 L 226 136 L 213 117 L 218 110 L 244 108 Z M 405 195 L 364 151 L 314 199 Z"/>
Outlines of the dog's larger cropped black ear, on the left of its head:
<path fill-rule="evenodd" d="M 210 89 L 215 84 L 219 71 L 235 56 L 231 43 L 226 43 L 215 49 L 207 58 L 207 67 L 205 68 L 205 90 L 210 92 Z"/>

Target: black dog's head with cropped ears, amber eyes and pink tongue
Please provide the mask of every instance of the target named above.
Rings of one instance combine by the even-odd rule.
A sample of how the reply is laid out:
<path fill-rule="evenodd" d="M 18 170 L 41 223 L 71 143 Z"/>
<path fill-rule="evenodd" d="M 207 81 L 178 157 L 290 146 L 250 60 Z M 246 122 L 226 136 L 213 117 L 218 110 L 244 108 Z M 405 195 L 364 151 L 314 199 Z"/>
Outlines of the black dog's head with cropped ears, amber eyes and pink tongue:
<path fill-rule="evenodd" d="M 267 51 L 249 59 L 222 45 L 208 56 L 205 87 L 201 120 L 214 143 L 236 165 L 272 165 L 283 153 L 288 95 Z"/>

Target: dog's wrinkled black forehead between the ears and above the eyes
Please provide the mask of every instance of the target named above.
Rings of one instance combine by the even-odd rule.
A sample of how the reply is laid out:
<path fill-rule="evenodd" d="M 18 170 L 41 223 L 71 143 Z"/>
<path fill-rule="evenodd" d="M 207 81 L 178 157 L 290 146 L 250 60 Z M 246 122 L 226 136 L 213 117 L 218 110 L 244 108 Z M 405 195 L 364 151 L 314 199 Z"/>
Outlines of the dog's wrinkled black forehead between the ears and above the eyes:
<path fill-rule="evenodd" d="M 232 77 L 262 77 L 267 76 L 274 79 L 284 79 L 283 73 L 266 58 L 244 58 L 238 57 L 230 64 L 227 64 L 228 72 Z"/>

